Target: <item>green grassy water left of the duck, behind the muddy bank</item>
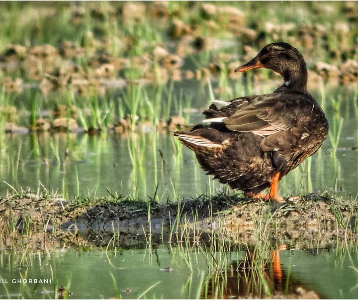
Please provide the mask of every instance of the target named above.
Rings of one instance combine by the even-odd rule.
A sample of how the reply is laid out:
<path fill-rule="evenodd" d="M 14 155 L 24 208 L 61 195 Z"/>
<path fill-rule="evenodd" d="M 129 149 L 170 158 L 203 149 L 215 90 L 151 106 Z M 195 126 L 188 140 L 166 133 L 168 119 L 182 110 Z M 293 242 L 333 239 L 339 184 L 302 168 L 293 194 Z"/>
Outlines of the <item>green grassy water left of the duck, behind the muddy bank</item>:
<path fill-rule="evenodd" d="M 175 201 L 207 191 L 209 180 L 195 158 L 176 153 L 175 143 L 166 132 L 7 135 L 0 176 L 16 189 L 36 191 L 41 183 L 70 198 L 109 196 L 109 190 L 132 198 Z M 1 183 L 1 193 L 7 184 Z"/>

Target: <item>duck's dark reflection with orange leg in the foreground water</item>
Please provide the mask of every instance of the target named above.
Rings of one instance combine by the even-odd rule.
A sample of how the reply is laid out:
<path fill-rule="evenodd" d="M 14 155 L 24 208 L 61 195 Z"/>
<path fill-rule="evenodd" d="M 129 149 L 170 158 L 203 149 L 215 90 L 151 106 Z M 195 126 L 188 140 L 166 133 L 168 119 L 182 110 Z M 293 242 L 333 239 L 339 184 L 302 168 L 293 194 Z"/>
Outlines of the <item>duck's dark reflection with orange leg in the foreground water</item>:
<path fill-rule="evenodd" d="M 211 273 L 203 285 L 202 298 L 320 299 L 316 292 L 306 291 L 302 283 L 282 270 L 282 250 L 286 250 L 286 245 L 272 250 L 272 260 L 259 265 L 261 253 L 246 249 L 243 260 L 231 263 L 225 272 Z"/>

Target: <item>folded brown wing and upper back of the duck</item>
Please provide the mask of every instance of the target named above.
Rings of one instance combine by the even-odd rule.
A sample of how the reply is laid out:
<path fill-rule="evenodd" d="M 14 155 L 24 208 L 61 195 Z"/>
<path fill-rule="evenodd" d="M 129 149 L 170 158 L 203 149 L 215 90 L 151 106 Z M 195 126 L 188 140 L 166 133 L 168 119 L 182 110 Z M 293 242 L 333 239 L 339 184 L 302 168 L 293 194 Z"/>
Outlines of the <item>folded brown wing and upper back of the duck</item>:
<path fill-rule="evenodd" d="M 298 93 L 273 93 L 232 100 L 211 115 L 205 121 L 220 122 L 229 130 L 262 136 L 263 151 L 293 149 L 327 125 L 317 102 Z"/>

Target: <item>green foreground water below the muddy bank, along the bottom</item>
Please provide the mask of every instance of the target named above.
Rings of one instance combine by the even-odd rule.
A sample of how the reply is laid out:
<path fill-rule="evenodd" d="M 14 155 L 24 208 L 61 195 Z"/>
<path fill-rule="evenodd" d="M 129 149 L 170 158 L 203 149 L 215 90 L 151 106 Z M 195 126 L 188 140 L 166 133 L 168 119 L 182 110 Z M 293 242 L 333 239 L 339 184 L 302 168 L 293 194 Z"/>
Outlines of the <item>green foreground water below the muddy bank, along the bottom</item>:
<path fill-rule="evenodd" d="M 179 248 L 167 246 L 159 246 L 152 254 L 148 249 L 103 251 L 97 248 L 53 249 L 24 256 L 1 252 L 0 298 L 54 298 L 54 290 L 61 286 L 71 292 L 70 299 L 136 299 L 141 296 L 192 299 L 215 293 L 225 298 L 249 293 L 263 296 L 262 279 L 256 277 L 254 271 L 246 270 L 248 280 L 245 280 L 242 268 L 238 267 L 246 257 L 243 249 L 223 254 L 226 258 L 223 273 L 208 270 L 204 252 L 190 252 L 193 266 L 190 273 Z M 269 269 L 264 271 L 270 293 L 287 295 L 302 287 L 315 290 L 323 298 L 358 297 L 355 246 L 281 250 L 280 262 L 282 282 L 279 283 Z M 172 271 L 165 271 L 166 268 Z M 48 283 L 35 285 L 28 283 L 30 279 L 47 280 Z M 222 289 L 223 280 L 227 284 Z"/>

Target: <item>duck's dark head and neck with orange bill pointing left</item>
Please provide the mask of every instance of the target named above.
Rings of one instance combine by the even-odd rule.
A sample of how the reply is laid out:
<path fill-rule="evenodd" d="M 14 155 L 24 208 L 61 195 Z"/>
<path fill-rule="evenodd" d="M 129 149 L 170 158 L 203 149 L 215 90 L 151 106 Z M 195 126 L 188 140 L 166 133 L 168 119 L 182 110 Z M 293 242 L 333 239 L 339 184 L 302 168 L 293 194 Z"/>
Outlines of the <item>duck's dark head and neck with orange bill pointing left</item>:
<path fill-rule="evenodd" d="M 280 74 L 289 86 L 294 84 L 305 87 L 307 84 L 307 67 L 302 54 L 290 44 L 272 43 L 265 46 L 250 62 L 235 69 L 235 72 L 246 72 L 266 68 Z"/>

